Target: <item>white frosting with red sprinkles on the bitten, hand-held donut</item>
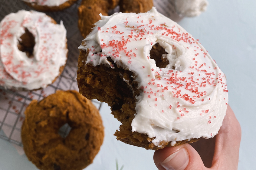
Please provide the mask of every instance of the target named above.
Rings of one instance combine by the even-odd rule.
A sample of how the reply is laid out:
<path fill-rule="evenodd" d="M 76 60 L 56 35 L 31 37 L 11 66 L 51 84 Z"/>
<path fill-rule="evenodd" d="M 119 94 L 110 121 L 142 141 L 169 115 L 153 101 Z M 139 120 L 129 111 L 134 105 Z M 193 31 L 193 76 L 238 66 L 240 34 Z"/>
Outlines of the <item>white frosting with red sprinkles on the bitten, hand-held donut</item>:
<path fill-rule="evenodd" d="M 136 74 L 143 92 L 137 96 L 132 131 L 155 137 L 159 147 L 161 141 L 175 145 L 216 135 L 227 108 L 226 78 L 198 40 L 155 8 L 101 17 L 79 49 L 89 50 L 86 64 L 111 67 L 106 60 L 111 57 Z M 149 57 L 156 43 L 168 53 L 166 68 Z"/>

